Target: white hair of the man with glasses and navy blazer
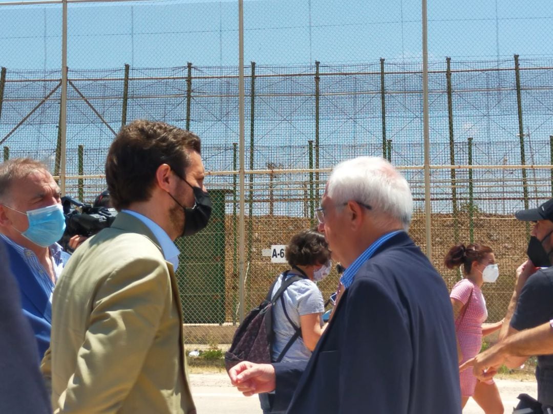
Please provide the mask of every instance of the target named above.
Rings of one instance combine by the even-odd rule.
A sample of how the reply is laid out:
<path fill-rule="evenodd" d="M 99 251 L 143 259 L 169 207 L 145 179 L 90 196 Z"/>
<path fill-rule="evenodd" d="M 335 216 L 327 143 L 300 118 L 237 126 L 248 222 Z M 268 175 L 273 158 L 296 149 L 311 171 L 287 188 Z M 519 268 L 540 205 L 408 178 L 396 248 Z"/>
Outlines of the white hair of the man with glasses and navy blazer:
<path fill-rule="evenodd" d="M 383 158 L 361 156 L 338 164 L 328 179 L 327 193 L 337 206 L 357 201 L 371 206 L 384 221 L 399 221 L 405 230 L 409 229 L 413 214 L 409 184 Z"/>

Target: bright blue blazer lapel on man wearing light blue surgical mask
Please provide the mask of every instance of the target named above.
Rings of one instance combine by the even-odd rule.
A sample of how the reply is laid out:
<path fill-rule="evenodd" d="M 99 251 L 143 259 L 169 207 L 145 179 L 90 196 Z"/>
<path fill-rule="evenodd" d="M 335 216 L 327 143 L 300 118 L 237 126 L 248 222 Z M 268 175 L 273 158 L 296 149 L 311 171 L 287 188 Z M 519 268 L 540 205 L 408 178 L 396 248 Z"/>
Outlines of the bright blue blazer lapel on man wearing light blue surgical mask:
<path fill-rule="evenodd" d="M 35 275 L 19 253 L 17 253 L 17 250 L 1 239 L 0 242 L 4 244 L 8 252 L 9 267 L 15 280 L 17 280 L 21 295 L 32 304 L 39 315 L 43 316 L 46 321 L 51 323 L 50 315 L 52 304 L 50 303 L 50 296 L 48 296 L 42 286 L 40 286 Z"/>

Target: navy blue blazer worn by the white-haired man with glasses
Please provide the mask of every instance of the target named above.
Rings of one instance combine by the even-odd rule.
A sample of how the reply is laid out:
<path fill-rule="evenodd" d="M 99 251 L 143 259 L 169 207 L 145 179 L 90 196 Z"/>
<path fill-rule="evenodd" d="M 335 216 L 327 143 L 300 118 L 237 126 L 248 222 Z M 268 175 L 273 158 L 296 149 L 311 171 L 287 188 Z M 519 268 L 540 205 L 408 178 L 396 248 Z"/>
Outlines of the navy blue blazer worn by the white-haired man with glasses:
<path fill-rule="evenodd" d="M 447 287 L 406 233 L 361 266 L 335 312 L 306 366 L 273 364 L 275 411 L 461 413 Z"/>

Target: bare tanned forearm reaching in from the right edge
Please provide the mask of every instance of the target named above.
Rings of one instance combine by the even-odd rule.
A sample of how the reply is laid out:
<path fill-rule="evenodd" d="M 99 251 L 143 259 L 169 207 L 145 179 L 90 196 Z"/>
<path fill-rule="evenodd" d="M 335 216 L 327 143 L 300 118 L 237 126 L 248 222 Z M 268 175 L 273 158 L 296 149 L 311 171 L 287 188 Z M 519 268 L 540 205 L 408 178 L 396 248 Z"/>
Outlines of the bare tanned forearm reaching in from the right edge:
<path fill-rule="evenodd" d="M 515 357 L 553 354 L 553 328 L 546 322 L 518 332 L 498 344 L 500 352 Z"/>

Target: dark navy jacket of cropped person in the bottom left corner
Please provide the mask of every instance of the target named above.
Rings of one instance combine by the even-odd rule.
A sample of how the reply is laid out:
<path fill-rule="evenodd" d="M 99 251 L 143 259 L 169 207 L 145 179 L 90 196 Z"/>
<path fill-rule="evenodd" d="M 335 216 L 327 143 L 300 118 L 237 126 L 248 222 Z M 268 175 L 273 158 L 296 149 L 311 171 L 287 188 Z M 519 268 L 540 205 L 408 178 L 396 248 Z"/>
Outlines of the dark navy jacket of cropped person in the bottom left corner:
<path fill-rule="evenodd" d="M 0 243 L 0 412 L 51 412 L 38 361 L 33 332 L 23 317 L 19 289 Z"/>

